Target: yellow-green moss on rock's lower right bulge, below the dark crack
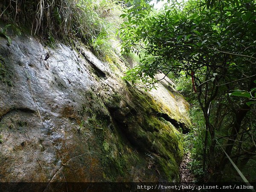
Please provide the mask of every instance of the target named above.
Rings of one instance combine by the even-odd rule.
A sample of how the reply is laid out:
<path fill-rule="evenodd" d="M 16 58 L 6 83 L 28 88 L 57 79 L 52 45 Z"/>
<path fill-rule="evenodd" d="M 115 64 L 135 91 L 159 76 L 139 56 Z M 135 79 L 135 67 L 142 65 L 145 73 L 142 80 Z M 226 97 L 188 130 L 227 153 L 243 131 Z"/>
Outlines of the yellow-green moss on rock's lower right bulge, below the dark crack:
<path fill-rule="evenodd" d="M 169 122 L 154 116 L 145 116 L 148 130 L 154 128 L 153 134 L 146 132 L 148 140 L 152 141 L 152 149 L 159 154 L 159 164 L 169 182 L 179 180 L 178 164 L 183 157 L 182 135 Z"/>

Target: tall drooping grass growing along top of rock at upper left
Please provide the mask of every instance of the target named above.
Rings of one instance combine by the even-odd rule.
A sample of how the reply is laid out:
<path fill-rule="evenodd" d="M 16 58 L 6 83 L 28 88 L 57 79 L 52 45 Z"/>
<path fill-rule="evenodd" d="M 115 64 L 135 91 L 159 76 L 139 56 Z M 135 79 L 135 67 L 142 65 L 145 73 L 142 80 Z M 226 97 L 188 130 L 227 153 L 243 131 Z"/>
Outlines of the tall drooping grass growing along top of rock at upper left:
<path fill-rule="evenodd" d="M 1 0 L 0 19 L 44 39 L 79 38 L 100 53 L 111 47 L 122 9 L 116 0 Z"/>

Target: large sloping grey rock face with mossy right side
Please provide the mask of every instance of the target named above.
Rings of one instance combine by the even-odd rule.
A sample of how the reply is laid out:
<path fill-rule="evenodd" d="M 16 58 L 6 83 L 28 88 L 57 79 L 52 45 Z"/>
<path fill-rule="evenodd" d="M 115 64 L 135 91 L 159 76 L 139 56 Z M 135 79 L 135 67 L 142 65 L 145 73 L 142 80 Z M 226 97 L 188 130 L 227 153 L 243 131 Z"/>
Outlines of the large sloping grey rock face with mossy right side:
<path fill-rule="evenodd" d="M 0 37 L 0 182 L 179 180 L 185 100 L 168 79 L 131 87 L 123 70 L 83 47 Z"/>

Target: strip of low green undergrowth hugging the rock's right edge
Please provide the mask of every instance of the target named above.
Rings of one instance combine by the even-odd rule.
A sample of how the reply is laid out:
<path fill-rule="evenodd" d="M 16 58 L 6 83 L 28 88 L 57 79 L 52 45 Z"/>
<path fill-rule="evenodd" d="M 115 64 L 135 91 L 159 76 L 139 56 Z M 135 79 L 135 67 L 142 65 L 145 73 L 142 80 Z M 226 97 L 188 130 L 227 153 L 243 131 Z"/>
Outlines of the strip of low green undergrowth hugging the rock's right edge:
<path fill-rule="evenodd" d="M 196 179 L 204 180 L 206 172 L 203 171 L 203 148 L 205 135 L 204 114 L 201 111 L 197 101 L 196 94 L 192 90 L 191 77 L 185 74 L 170 74 L 169 77 L 175 82 L 175 89 L 186 97 L 190 103 L 189 116 L 192 122 L 192 129 L 184 135 L 185 153 L 190 153 L 192 161 L 189 163 L 189 169 Z M 208 142 L 209 143 L 209 142 Z"/>

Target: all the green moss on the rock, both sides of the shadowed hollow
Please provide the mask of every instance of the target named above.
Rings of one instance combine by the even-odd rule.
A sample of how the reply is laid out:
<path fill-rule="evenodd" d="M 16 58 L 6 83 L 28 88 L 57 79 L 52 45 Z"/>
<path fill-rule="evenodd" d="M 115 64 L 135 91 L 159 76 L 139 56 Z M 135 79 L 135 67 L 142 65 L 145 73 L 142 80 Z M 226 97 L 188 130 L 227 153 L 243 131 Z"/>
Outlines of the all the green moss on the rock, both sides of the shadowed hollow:
<path fill-rule="evenodd" d="M 105 97 L 103 99 L 105 105 L 93 91 L 85 93 L 90 104 L 82 106 L 80 114 L 84 118 L 84 127 L 90 129 L 94 133 L 92 135 L 96 136 L 89 145 L 93 151 L 96 151 L 95 157 L 100 160 L 103 168 L 102 177 L 112 182 L 125 180 L 129 174 L 134 173 L 135 165 L 138 166 L 137 171 L 140 173 L 143 170 L 142 166 L 146 166 L 145 155 L 144 152 L 142 155 L 140 150 L 138 154 L 134 153 L 132 148 L 137 143 L 143 143 L 142 151 L 157 154 L 157 166 L 160 166 L 159 170 L 166 174 L 168 180 L 178 181 L 178 164 L 183 156 L 181 135 L 171 123 L 157 115 L 163 113 L 163 108 L 166 108 L 166 113 L 169 115 L 171 109 L 169 106 L 160 106 L 148 93 L 135 90 L 133 87 L 126 90 L 128 93 L 126 96 L 113 93 Z M 115 119 L 118 117 L 114 116 L 111 110 L 119 109 L 121 100 L 125 101 L 131 111 L 122 118 L 124 118 L 123 123 L 129 127 L 128 134 L 131 134 L 132 138 L 127 138 L 127 133 L 124 135 L 120 125 L 116 125 L 111 120 L 112 118 L 116 122 L 120 120 Z M 108 106 L 109 112 L 105 106 Z M 109 113 L 112 114 L 112 118 Z M 135 141 L 133 147 L 127 140 Z"/>

